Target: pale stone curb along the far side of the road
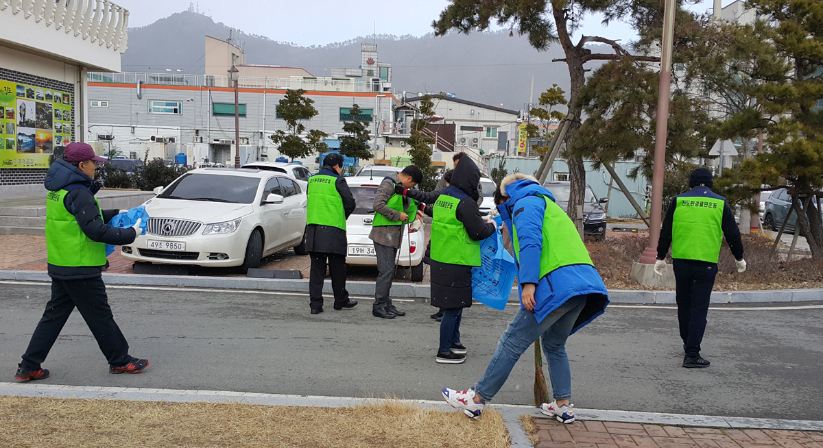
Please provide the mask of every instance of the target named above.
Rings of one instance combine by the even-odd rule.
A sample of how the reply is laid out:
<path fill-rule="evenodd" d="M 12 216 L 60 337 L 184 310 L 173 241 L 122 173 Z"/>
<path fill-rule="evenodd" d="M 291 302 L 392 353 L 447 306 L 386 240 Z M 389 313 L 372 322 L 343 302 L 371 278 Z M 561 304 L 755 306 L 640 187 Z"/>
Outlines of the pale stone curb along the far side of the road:
<path fill-rule="evenodd" d="M 50 282 L 43 270 L 0 270 L 0 279 Z M 106 284 L 140 286 L 178 286 L 188 288 L 258 289 L 286 293 L 309 293 L 308 279 L 250 279 L 246 277 L 205 277 L 179 275 L 103 274 Z M 374 296 L 374 282 L 346 281 L 346 289 L 354 296 Z M 392 284 L 391 295 L 396 298 L 430 298 L 429 284 Z M 323 283 L 323 293 L 332 293 L 330 282 Z M 611 303 L 665 303 L 673 304 L 674 291 L 647 291 L 637 289 L 609 289 Z M 518 291 L 512 289 L 509 300 L 518 302 Z M 823 289 L 773 289 L 765 291 L 714 292 L 711 303 L 788 303 L 823 301 Z"/>

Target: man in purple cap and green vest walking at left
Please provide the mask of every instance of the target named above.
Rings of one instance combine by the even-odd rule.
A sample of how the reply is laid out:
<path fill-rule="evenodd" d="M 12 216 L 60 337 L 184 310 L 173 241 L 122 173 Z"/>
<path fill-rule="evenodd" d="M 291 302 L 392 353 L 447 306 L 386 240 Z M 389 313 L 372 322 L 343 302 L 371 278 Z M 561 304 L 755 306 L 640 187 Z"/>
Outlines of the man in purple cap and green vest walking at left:
<path fill-rule="evenodd" d="M 49 371 L 40 367 L 54 341 L 63 330 L 74 307 L 80 311 L 109 361 L 109 373 L 138 373 L 147 359 L 132 358 L 128 342 L 111 314 L 105 284 L 100 273 L 106 264 L 105 245 L 130 244 L 140 232 L 140 219 L 133 227 L 119 229 L 107 225 L 119 210 L 100 210 L 95 193 L 95 155 L 86 143 L 66 146 L 64 159 L 55 159 L 46 173 L 46 246 L 49 249 L 49 276 L 52 297 L 40 323 L 31 335 L 16 379 L 42 380 Z"/>

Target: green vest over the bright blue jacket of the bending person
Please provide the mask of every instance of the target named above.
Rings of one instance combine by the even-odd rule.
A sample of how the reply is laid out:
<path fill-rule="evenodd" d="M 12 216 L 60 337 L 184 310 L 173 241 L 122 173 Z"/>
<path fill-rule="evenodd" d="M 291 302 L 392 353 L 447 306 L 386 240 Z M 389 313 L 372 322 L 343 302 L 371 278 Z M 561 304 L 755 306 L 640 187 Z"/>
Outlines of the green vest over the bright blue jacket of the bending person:
<path fill-rule="evenodd" d="M 542 196 L 542 195 L 540 195 Z M 543 246 L 540 252 L 540 278 L 563 266 L 594 266 L 588 250 L 580 239 L 580 233 L 574 223 L 554 201 L 546 196 L 546 210 L 543 212 Z M 517 227 L 512 217 L 512 235 L 514 235 L 514 255 L 520 262 L 520 242 Z"/>

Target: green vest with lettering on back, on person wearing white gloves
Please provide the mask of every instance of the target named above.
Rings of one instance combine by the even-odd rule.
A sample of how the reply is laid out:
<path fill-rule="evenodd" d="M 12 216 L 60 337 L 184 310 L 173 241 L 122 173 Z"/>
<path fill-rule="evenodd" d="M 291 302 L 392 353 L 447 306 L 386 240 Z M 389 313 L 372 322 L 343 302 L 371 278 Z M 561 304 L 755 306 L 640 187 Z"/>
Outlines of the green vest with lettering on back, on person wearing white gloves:
<path fill-rule="evenodd" d="M 723 208 L 714 197 L 677 197 L 672 219 L 672 258 L 717 263 L 723 244 Z"/>

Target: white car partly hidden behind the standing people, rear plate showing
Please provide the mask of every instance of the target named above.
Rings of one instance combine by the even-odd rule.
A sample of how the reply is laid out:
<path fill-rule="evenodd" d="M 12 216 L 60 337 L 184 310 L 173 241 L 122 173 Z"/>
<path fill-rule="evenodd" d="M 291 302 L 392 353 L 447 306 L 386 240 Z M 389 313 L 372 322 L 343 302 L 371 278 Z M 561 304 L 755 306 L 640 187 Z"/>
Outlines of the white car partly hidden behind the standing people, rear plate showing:
<path fill-rule="evenodd" d="M 371 224 L 374 222 L 374 195 L 383 178 L 366 176 L 346 178 L 351 194 L 355 197 L 357 207 L 346 219 L 346 238 L 348 239 L 348 256 L 346 264 L 377 266 L 374 255 L 374 242 L 369 239 Z M 410 219 L 414 219 L 410 217 Z M 398 266 L 411 267 L 412 281 L 423 280 L 423 252 L 425 252 L 425 233 L 420 221 L 404 226 L 402 242 L 398 255 Z"/>

